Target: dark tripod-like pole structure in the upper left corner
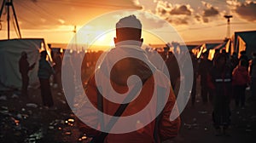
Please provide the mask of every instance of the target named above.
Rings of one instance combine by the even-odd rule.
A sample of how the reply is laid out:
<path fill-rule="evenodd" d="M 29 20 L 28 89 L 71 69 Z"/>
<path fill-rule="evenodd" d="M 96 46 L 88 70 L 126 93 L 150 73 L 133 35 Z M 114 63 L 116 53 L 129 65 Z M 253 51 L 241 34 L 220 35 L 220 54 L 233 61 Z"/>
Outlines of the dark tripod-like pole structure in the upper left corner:
<path fill-rule="evenodd" d="M 7 27 L 7 32 L 8 32 L 8 39 L 9 39 L 9 31 L 10 31 L 10 26 L 9 26 L 9 7 L 11 7 L 11 9 L 13 10 L 13 13 L 14 13 L 14 16 L 15 16 L 15 25 L 16 25 L 17 30 L 19 32 L 19 37 L 21 38 L 20 26 L 19 26 L 19 23 L 18 23 L 18 20 L 17 20 L 17 15 L 15 13 L 15 6 L 13 4 L 13 0 L 3 0 L 2 7 L 0 9 L 0 21 L 1 21 L 2 14 L 3 14 L 4 6 L 7 7 L 7 26 L 8 26 Z"/>

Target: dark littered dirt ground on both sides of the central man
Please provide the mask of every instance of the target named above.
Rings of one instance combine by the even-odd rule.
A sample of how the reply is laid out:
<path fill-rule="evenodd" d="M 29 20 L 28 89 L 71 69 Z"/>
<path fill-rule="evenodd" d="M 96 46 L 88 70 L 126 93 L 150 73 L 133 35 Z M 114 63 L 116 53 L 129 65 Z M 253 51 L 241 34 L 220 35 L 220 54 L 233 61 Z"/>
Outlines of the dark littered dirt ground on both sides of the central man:
<path fill-rule="evenodd" d="M 52 88 L 55 110 L 42 106 L 40 89 L 29 89 L 29 97 L 19 91 L 0 92 L 0 142 L 82 142 L 73 112 L 65 95 Z M 195 106 L 189 104 L 181 114 L 180 133 L 172 142 L 180 143 L 253 143 L 256 142 L 256 101 L 249 99 L 245 109 L 236 109 L 232 102 L 230 136 L 215 136 L 212 127 L 212 106 L 201 103 L 197 94 Z"/>

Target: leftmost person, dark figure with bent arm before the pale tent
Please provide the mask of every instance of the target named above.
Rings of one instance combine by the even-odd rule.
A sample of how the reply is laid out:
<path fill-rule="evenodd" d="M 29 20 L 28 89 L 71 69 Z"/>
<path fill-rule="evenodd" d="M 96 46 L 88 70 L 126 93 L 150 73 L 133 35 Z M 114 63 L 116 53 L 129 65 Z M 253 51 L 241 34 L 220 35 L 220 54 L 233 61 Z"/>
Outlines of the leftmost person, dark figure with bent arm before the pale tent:
<path fill-rule="evenodd" d="M 20 69 L 21 80 L 22 80 L 21 95 L 23 96 L 27 96 L 27 87 L 29 83 L 28 72 L 31 71 L 36 65 L 36 63 L 33 63 L 32 66 L 29 66 L 29 63 L 26 59 L 27 59 L 26 52 L 22 52 L 19 60 L 19 69 Z"/>

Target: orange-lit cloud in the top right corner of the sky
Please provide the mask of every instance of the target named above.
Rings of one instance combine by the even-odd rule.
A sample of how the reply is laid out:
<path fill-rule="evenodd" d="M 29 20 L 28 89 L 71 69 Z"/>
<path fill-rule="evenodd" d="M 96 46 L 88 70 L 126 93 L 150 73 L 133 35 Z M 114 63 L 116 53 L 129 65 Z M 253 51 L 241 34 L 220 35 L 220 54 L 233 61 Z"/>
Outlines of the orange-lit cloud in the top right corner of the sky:
<path fill-rule="evenodd" d="M 228 2 L 227 2 L 228 3 Z M 256 21 L 256 2 L 247 1 L 245 3 L 229 3 L 235 7 L 233 11 L 238 14 L 239 17 L 247 21 Z"/>

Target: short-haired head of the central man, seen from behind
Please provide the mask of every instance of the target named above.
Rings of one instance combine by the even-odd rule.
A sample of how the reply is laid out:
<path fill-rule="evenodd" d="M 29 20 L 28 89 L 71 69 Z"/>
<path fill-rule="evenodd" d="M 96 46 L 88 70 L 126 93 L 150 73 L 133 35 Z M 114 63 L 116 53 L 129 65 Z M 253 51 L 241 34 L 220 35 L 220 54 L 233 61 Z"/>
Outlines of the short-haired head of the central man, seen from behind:
<path fill-rule="evenodd" d="M 142 23 L 135 15 L 124 17 L 116 23 L 116 37 L 114 43 L 119 43 L 126 40 L 135 40 L 143 42 Z"/>

